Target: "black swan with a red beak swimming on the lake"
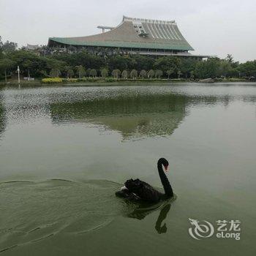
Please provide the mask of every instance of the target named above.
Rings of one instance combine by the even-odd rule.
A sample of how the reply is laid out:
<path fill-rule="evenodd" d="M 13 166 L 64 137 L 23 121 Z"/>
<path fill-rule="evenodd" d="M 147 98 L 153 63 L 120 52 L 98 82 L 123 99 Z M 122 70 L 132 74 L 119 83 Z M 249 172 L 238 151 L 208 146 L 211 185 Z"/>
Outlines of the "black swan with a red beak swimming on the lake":
<path fill-rule="evenodd" d="M 173 197 L 173 189 L 170 186 L 162 165 L 167 170 L 169 165 L 165 158 L 160 158 L 157 162 L 158 173 L 162 182 L 162 186 L 165 189 L 165 194 L 158 192 L 156 189 L 151 187 L 144 181 L 140 181 L 138 178 L 133 180 L 132 178 L 125 181 L 124 187 L 120 191 L 116 192 L 116 196 L 124 197 L 129 200 L 143 200 L 147 202 L 157 203 L 160 200 L 165 200 L 167 198 Z"/>

